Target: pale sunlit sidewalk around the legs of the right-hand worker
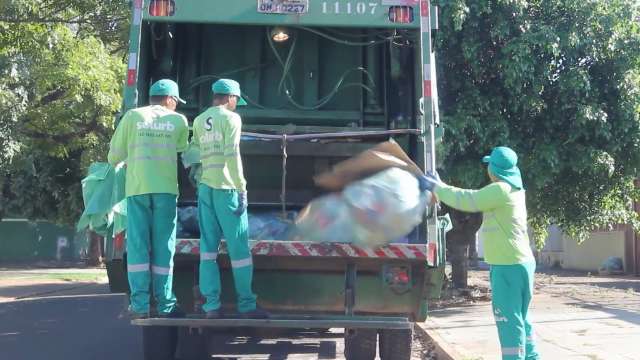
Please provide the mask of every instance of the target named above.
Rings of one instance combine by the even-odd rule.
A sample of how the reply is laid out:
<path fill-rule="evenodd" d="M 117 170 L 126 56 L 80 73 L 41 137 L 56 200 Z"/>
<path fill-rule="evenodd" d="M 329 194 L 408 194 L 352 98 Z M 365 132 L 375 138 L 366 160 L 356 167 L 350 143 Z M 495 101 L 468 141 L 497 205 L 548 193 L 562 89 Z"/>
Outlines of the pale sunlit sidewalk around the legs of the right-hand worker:
<path fill-rule="evenodd" d="M 488 272 L 470 283 L 488 286 Z M 536 274 L 531 307 L 541 359 L 640 359 L 640 278 Z M 488 301 L 434 309 L 421 326 L 456 360 L 500 359 Z"/>

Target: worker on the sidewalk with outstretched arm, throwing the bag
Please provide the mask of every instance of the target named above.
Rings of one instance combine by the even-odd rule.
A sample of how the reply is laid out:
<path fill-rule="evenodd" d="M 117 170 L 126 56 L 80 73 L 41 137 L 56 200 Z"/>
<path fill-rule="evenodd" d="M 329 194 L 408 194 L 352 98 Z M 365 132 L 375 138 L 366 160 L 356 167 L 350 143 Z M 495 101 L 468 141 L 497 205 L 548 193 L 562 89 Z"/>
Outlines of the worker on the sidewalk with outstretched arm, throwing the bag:
<path fill-rule="evenodd" d="M 422 177 L 420 184 L 423 190 L 433 192 L 452 208 L 483 213 L 480 231 L 485 261 L 491 265 L 493 314 L 502 359 L 539 359 L 529 317 L 536 264 L 529 245 L 518 156 L 510 148 L 500 146 L 482 160 L 489 164 L 491 184 L 480 190 L 446 185 L 437 173 Z"/>

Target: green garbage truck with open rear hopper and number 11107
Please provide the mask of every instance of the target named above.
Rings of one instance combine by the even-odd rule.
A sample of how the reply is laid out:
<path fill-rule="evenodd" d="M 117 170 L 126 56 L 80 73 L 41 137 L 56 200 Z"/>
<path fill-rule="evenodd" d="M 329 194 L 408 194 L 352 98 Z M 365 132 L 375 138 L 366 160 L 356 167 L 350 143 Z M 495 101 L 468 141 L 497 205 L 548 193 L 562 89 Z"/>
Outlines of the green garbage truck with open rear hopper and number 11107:
<path fill-rule="evenodd" d="M 211 106 L 215 80 L 238 81 L 249 103 L 237 110 L 249 216 L 291 217 L 325 193 L 314 175 L 381 142 L 393 140 L 423 171 L 434 168 L 436 28 L 428 0 L 133 0 L 122 113 L 147 105 L 150 84 L 170 78 L 191 124 Z M 179 212 L 188 214 L 197 205 L 188 169 L 180 167 L 179 182 Z M 344 328 L 347 359 L 409 359 L 413 324 L 442 285 L 445 225 L 430 205 L 403 241 L 380 248 L 304 234 L 251 238 L 253 289 L 271 317 L 205 319 L 199 234 L 178 224 L 173 285 L 188 315 L 132 325 L 154 360 L 176 351 L 206 358 L 211 333 L 229 328 Z M 106 254 L 111 290 L 127 292 L 126 231 L 107 237 Z M 224 242 L 220 254 L 223 308 L 233 308 Z"/>

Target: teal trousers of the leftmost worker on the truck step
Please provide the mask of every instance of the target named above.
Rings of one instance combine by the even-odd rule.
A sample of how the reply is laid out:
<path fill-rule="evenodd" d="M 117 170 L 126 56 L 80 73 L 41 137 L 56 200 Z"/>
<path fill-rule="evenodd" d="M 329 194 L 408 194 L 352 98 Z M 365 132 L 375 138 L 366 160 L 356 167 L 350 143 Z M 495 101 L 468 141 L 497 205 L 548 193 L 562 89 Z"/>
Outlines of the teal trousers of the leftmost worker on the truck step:
<path fill-rule="evenodd" d="M 176 306 L 171 289 L 175 249 L 176 195 L 127 197 L 127 274 L 131 311 L 149 312 L 150 277 L 153 277 L 158 313 L 173 311 Z"/>

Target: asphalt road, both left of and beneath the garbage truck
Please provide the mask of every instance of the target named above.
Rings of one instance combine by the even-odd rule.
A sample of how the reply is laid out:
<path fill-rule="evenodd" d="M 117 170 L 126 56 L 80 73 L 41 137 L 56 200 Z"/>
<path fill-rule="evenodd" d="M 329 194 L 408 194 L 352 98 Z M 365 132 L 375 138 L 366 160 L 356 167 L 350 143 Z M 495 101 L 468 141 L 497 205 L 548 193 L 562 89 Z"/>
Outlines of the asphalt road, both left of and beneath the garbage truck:
<path fill-rule="evenodd" d="M 142 359 L 141 330 L 122 316 L 124 296 L 104 284 L 0 303 L 0 360 Z M 215 334 L 211 359 L 341 359 L 342 330 L 263 338 Z"/>

